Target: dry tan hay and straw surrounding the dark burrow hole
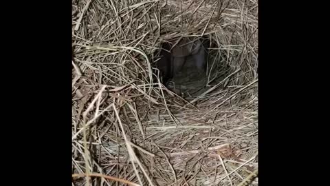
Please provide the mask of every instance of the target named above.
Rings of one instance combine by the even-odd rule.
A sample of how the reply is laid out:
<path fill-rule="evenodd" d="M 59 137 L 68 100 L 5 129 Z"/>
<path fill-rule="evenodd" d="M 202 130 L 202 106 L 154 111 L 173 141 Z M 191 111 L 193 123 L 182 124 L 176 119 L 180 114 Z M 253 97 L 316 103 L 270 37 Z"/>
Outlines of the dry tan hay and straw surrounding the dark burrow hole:
<path fill-rule="evenodd" d="M 254 0 L 74 0 L 73 185 L 243 185 L 255 177 L 257 15 Z M 186 36 L 216 47 L 206 88 L 181 99 L 153 82 L 153 63 L 162 41 Z"/>

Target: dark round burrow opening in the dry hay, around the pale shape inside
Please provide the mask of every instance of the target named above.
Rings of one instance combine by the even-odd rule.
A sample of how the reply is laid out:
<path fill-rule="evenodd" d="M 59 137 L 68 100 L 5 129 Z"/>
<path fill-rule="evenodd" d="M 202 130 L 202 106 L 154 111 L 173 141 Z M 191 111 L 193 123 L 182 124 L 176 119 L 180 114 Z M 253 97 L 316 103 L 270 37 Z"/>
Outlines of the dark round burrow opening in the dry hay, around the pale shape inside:
<path fill-rule="evenodd" d="M 190 39 L 197 40 L 197 39 Z M 159 79 L 171 91 L 182 98 L 189 100 L 203 94 L 210 87 L 217 85 L 230 73 L 230 65 L 224 50 L 217 43 L 210 42 L 207 38 L 199 39 L 204 50 L 205 68 L 200 70 L 195 63 L 196 58 L 188 54 L 184 57 L 184 64 L 173 72 L 175 58 L 175 44 L 177 41 L 164 41 L 156 50 L 153 58 L 153 68 L 159 70 Z M 174 46 L 174 47 L 173 47 Z M 197 53 L 197 55 L 199 55 Z M 199 58 L 201 59 L 201 57 Z M 199 62 L 201 63 L 201 62 Z M 175 65 L 175 64 L 174 64 Z M 223 87 L 223 85 L 222 85 Z M 221 88 L 221 86 L 219 86 Z"/>

